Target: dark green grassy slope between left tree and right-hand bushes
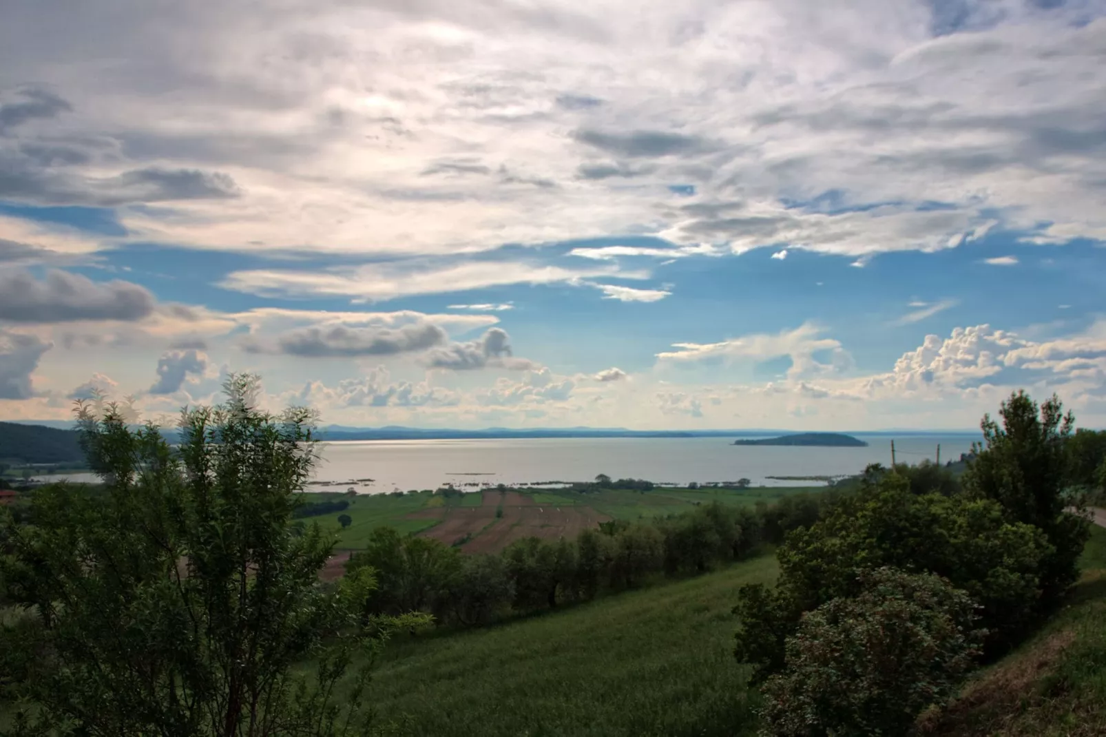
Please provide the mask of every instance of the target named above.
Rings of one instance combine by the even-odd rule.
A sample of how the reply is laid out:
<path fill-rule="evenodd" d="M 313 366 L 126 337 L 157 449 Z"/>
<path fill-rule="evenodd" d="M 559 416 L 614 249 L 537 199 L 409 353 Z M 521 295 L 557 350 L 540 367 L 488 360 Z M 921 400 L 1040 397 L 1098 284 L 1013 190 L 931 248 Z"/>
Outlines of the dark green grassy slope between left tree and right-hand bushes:
<path fill-rule="evenodd" d="M 738 587 L 775 572 L 765 556 L 497 627 L 393 643 L 371 689 L 404 735 L 751 735 L 730 608 Z"/>

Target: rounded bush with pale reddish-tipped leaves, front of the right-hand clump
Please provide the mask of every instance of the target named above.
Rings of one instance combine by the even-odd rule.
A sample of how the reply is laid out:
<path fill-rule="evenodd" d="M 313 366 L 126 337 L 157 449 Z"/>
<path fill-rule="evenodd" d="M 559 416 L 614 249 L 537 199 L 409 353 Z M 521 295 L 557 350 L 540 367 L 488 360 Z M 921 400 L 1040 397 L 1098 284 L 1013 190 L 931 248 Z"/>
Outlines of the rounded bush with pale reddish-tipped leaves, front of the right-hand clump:
<path fill-rule="evenodd" d="M 762 735 L 902 735 L 972 666 L 983 633 L 963 591 L 890 568 L 857 585 L 856 598 L 806 613 L 787 639 L 784 671 L 764 685 Z"/>

